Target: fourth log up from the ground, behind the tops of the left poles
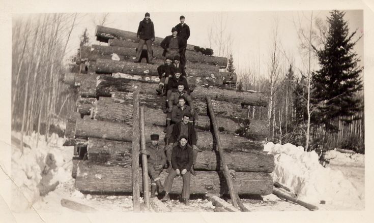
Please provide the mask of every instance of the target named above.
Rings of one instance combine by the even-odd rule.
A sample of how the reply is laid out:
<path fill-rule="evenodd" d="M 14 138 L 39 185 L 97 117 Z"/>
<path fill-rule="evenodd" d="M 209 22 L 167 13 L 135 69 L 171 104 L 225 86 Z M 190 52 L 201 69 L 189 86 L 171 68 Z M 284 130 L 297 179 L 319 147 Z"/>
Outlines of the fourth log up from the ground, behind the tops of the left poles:
<path fill-rule="evenodd" d="M 161 109 L 145 107 L 145 122 L 147 125 L 164 126 L 166 114 Z M 116 100 L 114 98 L 100 98 L 92 110 L 92 116 L 96 120 L 119 121 L 130 123 L 132 120 L 132 106 L 129 101 Z M 210 130 L 210 120 L 206 115 L 200 115 L 197 129 Z M 217 117 L 218 128 L 222 131 L 235 133 L 242 129 L 240 123 L 223 117 Z"/>

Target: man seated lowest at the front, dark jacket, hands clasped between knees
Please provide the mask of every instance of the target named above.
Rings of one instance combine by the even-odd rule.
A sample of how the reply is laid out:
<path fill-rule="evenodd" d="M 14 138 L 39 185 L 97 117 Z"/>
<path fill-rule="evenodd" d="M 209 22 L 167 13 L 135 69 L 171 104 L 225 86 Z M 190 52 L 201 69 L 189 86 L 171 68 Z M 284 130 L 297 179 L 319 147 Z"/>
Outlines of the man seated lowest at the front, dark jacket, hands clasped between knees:
<path fill-rule="evenodd" d="M 185 205 L 189 205 L 190 199 L 190 170 L 193 164 L 193 151 L 191 146 L 187 144 L 188 137 L 183 135 L 178 138 L 179 143 L 172 148 L 171 166 L 172 168 L 164 183 L 165 195 L 161 201 L 168 201 L 172 182 L 178 175 L 183 177 L 182 201 Z M 171 149 L 170 149 L 171 150 Z M 170 151 L 171 153 L 171 151 Z"/>

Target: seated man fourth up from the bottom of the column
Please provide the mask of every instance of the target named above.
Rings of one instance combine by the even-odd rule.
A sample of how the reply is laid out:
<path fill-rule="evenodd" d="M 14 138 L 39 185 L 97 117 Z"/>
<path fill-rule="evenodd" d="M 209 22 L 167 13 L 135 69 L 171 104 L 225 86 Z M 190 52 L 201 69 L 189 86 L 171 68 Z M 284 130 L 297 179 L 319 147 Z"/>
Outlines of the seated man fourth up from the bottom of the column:
<path fill-rule="evenodd" d="M 165 127 L 164 132 L 166 132 L 167 127 L 171 123 L 171 112 L 172 112 L 173 107 L 181 103 L 179 100 L 179 97 L 182 96 L 184 98 L 183 105 L 187 102 L 187 105 L 190 107 L 190 110 L 192 110 L 191 111 L 192 114 L 194 112 L 192 98 L 190 95 L 188 95 L 188 92 L 184 89 L 184 85 L 180 83 L 177 89 L 178 90 L 169 92 L 169 94 L 167 94 L 166 96 L 166 108 L 164 110 L 164 113 L 166 113 L 166 127 Z"/>

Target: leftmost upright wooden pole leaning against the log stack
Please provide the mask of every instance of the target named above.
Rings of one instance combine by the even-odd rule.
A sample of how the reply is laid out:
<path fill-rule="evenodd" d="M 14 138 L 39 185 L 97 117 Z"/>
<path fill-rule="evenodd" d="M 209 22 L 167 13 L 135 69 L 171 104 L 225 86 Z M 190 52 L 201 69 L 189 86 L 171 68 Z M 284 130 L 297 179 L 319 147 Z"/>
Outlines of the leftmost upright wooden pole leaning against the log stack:
<path fill-rule="evenodd" d="M 133 94 L 132 110 L 132 204 L 134 212 L 140 211 L 140 190 L 139 190 L 139 147 L 140 147 L 140 126 L 139 126 L 139 91 Z"/>

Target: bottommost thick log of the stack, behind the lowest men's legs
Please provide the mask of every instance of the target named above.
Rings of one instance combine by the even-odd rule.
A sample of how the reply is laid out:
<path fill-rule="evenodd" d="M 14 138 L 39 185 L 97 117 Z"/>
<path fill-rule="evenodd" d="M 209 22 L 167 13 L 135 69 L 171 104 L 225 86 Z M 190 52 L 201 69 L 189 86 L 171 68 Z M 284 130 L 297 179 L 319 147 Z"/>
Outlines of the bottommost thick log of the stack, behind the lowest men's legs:
<path fill-rule="evenodd" d="M 221 173 L 196 171 L 191 176 L 191 194 L 228 194 L 227 184 Z M 140 174 L 140 173 L 139 173 Z M 160 174 L 164 181 L 167 173 Z M 238 194 L 269 195 L 273 191 L 273 179 L 268 173 L 237 172 L 233 179 Z M 182 178 L 176 177 L 171 188 L 172 194 L 182 191 Z M 101 166 L 80 161 L 75 187 L 82 193 L 131 193 L 131 167 Z"/>

